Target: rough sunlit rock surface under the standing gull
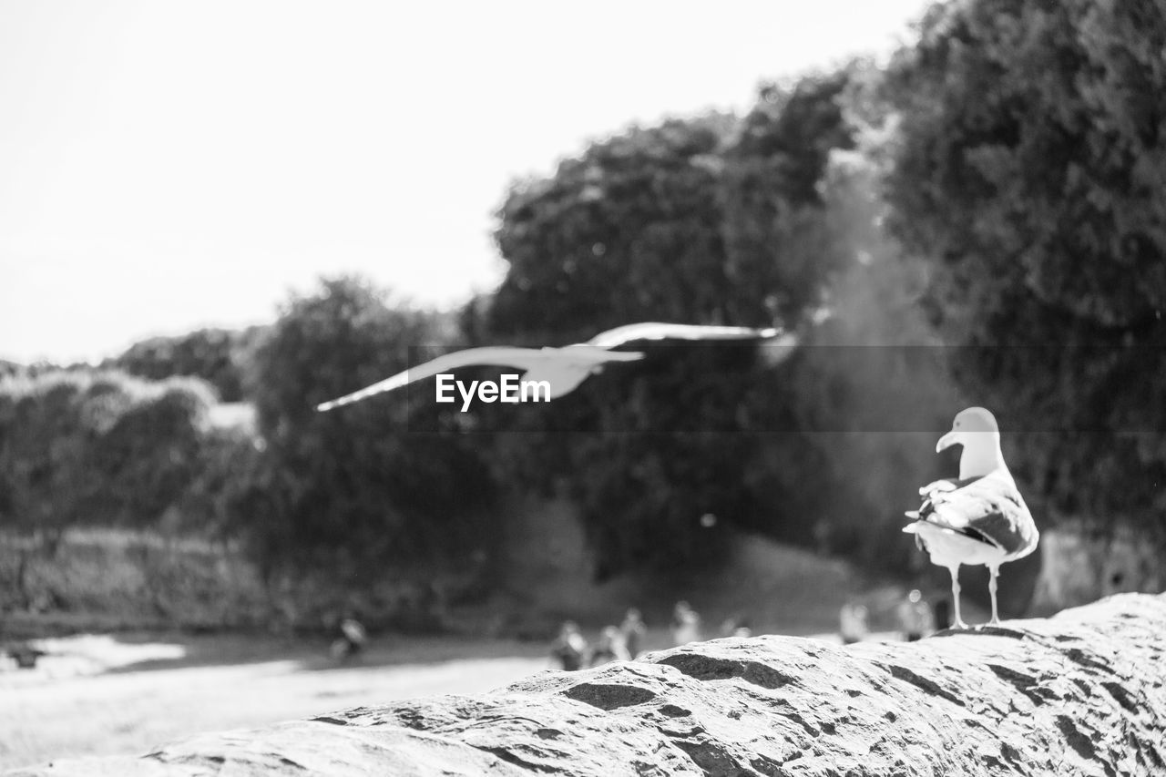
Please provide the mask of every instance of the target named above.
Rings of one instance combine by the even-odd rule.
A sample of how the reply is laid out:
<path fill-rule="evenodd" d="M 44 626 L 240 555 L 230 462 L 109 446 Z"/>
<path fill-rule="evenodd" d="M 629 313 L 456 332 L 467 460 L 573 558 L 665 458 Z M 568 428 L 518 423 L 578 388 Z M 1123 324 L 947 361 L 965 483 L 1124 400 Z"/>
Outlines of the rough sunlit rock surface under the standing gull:
<path fill-rule="evenodd" d="M 841 648 L 719 639 L 48 775 L 1166 775 L 1166 596 Z"/>

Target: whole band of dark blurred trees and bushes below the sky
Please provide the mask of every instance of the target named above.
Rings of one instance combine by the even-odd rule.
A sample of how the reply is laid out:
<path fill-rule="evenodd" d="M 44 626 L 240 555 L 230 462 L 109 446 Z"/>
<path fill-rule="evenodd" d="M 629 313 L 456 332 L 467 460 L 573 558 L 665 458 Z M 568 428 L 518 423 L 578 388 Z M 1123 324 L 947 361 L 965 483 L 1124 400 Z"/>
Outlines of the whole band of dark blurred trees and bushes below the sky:
<path fill-rule="evenodd" d="M 901 511 L 954 466 L 935 434 L 982 404 L 1042 516 L 1166 542 L 1164 50 L 1151 0 L 936 5 L 885 72 L 768 85 L 514 184 L 505 279 L 456 320 L 342 278 L 269 328 L 106 365 L 141 379 L 0 362 L 0 527 L 238 538 L 268 584 L 358 588 L 477 570 L 504 505 L 557 496 L 600 579 L 716 561 L 725 526 L 901 569 Z M 637 344 L 552 406 L 435 413 L 428 382 L 314 410 L 445 349 L 640 321 L 801 344 Z M 217 426 L 216 392 L 254 428 Z"/>

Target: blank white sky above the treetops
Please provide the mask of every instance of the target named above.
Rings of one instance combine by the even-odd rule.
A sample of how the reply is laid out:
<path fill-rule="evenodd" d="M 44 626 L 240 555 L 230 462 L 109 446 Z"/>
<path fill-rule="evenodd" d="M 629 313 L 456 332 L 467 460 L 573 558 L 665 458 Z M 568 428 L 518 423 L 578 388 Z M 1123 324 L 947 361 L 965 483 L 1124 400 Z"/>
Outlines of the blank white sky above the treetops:
<path fill-rule="evenodd" d="M 0 358 L 273 321 L 321 275 L 451 306 L 493 214 L 633 123 L 911 40 L 923 0 L 0 0 Z"/>

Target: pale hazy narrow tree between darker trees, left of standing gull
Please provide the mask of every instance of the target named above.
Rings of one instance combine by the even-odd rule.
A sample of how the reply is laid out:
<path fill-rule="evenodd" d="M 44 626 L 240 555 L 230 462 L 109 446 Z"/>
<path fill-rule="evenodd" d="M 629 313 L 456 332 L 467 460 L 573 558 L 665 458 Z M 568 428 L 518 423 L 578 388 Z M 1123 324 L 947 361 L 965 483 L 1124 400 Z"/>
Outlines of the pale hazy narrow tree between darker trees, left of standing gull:
<path fill-rule="evenodd" d="M 915 553 L 902 512 L 921 483 L 950 468 L 934 443 L 962 399 L 919 307 L 923 267 L 881 226 L 881 121 L 851 121 L 861 147 L 831 156 L 820 190 L 824 228 L 856 260 L 828 289 L 829 317 L 780 376 L 793 428 L 803 430 L 798 454 L 766 446 L 751 476 L 759 487 L 775 481 L 778 494 L 805 484 L 788 539 L 814 537 L 822 551 L 901 572 Z"/>

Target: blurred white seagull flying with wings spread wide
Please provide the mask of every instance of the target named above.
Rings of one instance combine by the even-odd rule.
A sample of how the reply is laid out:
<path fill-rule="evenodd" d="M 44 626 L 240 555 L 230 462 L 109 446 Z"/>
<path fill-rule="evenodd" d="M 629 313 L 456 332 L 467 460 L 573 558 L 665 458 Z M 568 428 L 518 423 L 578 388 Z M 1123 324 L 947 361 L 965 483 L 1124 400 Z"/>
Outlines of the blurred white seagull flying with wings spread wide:
<path fill-rule="evenodd" d="M 316 406 L 319 412 L 351 405 L 386 391 L 400 388 L 416 380 L 430 378 L 464 366 L 506 366 L 520 370 L 527 380 L 550 384 L 550 399 L 575 390 L 589 376 L 600 372 L 607 362 L 634 362 L 644 354 L 612 351 L 612 348 L 644 340 L 770 340 L 777 329 L 751 327 L 700 327 L 694 324 L 638 323 L 600 332 L 585 343 L 563 348 L 470 348 L 438 356 L 431 362 L 399 372 L 371 386 Z M 779 344 L 788 344 L 779 341 Z"/>

